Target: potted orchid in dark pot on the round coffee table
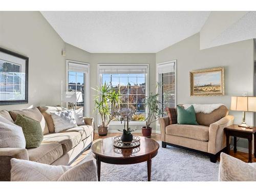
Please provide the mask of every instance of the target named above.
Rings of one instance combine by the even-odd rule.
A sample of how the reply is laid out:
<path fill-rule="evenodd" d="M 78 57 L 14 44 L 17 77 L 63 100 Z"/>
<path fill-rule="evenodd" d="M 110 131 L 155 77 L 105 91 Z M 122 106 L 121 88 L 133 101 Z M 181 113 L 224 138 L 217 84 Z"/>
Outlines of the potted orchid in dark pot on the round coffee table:
<path fill-rule="evenodd" d="M 121 141 L 122 142 L 131 142 L 133 140 L 132 132 L 134 132 L 135 130 L 132 130 L 129 127 L 129 121 L 133 117 L 133 112 L 132 112 L 131 109 L 123 108 L 123 109 L 120 110 L 119 114 L 120 114 L 120 117 L 121 117 L 121 123 L 124 124 L 124 129 L 123 130 L 118 130 L 118 131 L 123 133 L 122 136 L 121 136 Z"/>

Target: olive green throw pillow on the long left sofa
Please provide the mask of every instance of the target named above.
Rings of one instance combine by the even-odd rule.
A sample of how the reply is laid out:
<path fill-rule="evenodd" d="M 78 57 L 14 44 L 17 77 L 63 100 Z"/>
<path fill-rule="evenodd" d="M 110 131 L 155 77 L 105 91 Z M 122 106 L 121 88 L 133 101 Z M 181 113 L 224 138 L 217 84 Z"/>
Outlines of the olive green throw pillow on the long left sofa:
<path fill-rule="evenodd" d="M 36 148 L 41 144 L 44 136 L 42 135 L 40 122 L 25 115 L 17 114 L 14 123 L 22 127 L 26 140 L 26 148 Z"/>

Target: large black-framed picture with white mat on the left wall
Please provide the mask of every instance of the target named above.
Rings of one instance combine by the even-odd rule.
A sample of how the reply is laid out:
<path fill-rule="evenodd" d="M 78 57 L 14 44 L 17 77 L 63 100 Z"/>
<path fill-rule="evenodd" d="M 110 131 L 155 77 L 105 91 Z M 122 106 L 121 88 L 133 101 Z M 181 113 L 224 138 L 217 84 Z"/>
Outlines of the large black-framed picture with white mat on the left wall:
<path fill-rule="evenodd" d="M 0 48 L 0 105 L 28 103 L 29 58 Z"/>

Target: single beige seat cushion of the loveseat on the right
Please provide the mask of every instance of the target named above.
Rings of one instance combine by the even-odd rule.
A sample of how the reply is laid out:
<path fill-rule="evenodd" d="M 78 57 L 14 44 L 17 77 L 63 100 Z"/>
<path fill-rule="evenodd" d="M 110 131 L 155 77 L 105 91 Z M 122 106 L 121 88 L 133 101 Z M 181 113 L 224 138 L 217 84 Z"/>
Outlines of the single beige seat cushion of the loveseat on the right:
<path fill-rule="evenodd" d="M 187 137 L 201 141 L 209 140 L 209 127 L 204 125 L 170 124 L 165 127 L 167 135 Z"/>

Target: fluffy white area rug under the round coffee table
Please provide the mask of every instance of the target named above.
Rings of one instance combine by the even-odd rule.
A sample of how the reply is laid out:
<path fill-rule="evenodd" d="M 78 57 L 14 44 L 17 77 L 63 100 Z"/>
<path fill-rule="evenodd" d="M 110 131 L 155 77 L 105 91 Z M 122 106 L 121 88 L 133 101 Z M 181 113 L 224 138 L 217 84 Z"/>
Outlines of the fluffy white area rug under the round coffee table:
<path fill-rule="evenodd" d="M 152 159 L 152 181 L 217 181 L 219 162 L 209 157 L 167 146 Z M 94 159 L 92 152 L 84 160 Z M 95 159 L 94 159 L 95 160 Z M 95 160 L 96 163 L 96 160 Z M 147 181 L 146 162 L 114 165 L 101 162 L 101 181 Z"/>

